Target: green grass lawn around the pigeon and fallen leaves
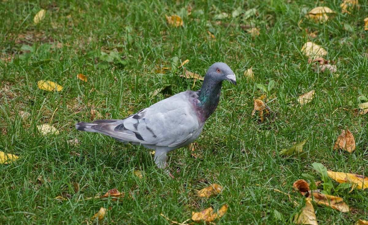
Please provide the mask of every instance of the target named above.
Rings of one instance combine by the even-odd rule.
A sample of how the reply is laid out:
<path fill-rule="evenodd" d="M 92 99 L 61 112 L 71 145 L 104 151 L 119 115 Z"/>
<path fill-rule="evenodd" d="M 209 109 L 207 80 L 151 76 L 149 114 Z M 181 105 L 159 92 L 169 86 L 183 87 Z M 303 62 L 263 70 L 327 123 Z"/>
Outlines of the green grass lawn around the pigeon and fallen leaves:
<path fill-rule="evenodd" d="M 0 164 L 0 224 L 87 223 L 100 207 L 112 207 L 99 221 L 102 224 L 169 224 L 160 213 L 183 222 L 192 211 L 218 209 L 224 203 L 229 209 L 216 224 L 292 224 L 293 215 L 304 205 L 293 192 L 293 182 L 302 179 L 302 173 L 321 178 L 312 162 L 367 176 L 367 115 L 355 117 L 337 110 L 357 108 L 358 96 L 368 95 L 368 59 L 362 55 L 367 51 L 363 29 L 367 1 L 359 1 L 360 9 L 350 15 L 341 13 L 340 3 L 1 2 L 0 149 L 21 158 Z M 188 6 L 192 8 L 189 16 Z M 241 28 L 241 17 L 230 16 L 221 24 L 214 19 L 219 12 L 231 14 L 238 6 L 258 11 L 244 21 L 259 29 L 254 39 Z M 325 24 L 306 21 L 305 12 L 316 6 L 328 6 L 337 13 Z M 33 17 L 42 8 L 46 17 L 34 25 Z M 165 14 L 183 15 L 183 26 L 168 25 Z M 298 28 L 300 19 L 303 29 Z M 311 38 L 308 33 L 314 31 L 317 37 Z M 340 76 L 313 71 L 300 51 L 309 40 L 328 51 L 325 58 L 336 61 Z M 101 57 L 101 52 L 110 51 L 117 51 L 118 56 Z M 197 74 L 204 75 L 212 63 L 222 61 L 237 75 L 237 86 L 224 82 L 219 107 L 196 141 L 203 160 L 192 158 L 188 149 L 171 152 L 171 168 L 180 168 L 176 179 L 171 179 L 155 167 L 153 156 L 143 147 L 75 130 L 75 122 L 91 121 L 91 109 L 104 118 L 124 118 L 168 97 L 149 94 L 163 85 L 173 85 L 173 93 L 199 89 L 200 81 L 178 76 L 182 69 L 155 72 L 170 67 L 173 57 L 189 59 L 185 67 Z M 243 75 L 251 66 L 255 81 Z M 77 79 L 79 73 L 88 75 L 88 82 Z M 40 79 L 64 89 L 41 90 L 37 87 Z M 266 85 L 271 80 L 275 88 L 268 97 L 275 94 L 276 100 L 268 104 L 276 119 L 259 124 L 250 115 L 253 98 L 263 94 L 256 83 Z M 297 97 L 310 90 L 316 91 L 315 99 L 300 106 Z M 29 117 L 22 119 L 21 111 Z M 40 135 L 36 126 L 44 123 L 55 126 L 60 134 Z M 345 126 L 357 143 L 351 154 L 333 150 Z M 67 142 L 75 138 L 79 140 L 76 146 Z M 279 156 L 281 149 L 307 138 L 307 158 Z M 135 176 L 135 170 L 144 171 L 144 179 Z M 78 194 L 67 201 L 53 199 L 61 192 L 72 194 L 73 182 L 81 187 Z M 208 183 L 222 185 L 223 192 L 209 199 L 196 196 L 194 189 Z M 123 203 L 84 200 L 112 188 L 134 197 L 125 194 Z M 273 188 L 290 193 L 300 206 L 294 207 Z M 333 193 L 344 198 L 351 212 L 314 205 L 320 225 L 368 219 L 367 191 L 349 190 Z M 281 217 L 275 217 L 274 210 Z"/>

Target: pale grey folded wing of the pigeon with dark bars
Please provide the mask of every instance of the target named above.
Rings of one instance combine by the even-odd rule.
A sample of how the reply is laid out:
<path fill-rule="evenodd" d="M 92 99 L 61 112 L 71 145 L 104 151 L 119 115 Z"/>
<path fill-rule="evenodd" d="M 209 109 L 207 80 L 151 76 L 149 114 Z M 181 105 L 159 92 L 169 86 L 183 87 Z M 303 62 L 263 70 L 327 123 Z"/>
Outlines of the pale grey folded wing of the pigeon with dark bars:
<path fill-rule="evenodd" d="M 177 147 L 189 139 L 197 138 L 202 127 L 184 92 L 159 101 L 123 120 L 93 125 L 93 129 L 129 142 Z"/>

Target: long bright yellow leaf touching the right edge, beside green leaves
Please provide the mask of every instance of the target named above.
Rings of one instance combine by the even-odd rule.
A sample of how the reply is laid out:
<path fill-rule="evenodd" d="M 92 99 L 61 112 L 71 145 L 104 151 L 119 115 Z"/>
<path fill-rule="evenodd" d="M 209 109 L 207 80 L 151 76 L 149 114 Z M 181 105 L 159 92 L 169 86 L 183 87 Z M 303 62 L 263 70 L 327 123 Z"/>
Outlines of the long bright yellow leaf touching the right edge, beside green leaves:
<path fill-rule="evenodd" d="M 356 185 L 358 189 L 365 189 L 368 187 L 368 177 L 362 175 L 333 171 L 327 171 L 327 175 L 339 183 L 350 182 L 352 185 Z"/>

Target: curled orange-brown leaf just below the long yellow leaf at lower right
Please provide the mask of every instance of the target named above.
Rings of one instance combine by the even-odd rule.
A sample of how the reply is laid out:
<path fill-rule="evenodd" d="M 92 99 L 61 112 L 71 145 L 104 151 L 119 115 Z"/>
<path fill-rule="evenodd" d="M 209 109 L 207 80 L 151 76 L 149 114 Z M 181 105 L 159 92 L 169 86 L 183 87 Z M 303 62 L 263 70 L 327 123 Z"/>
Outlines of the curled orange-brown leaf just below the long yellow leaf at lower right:
<path fill-rule="evenodd" d="M 340 212 L 350 211 L 349 206 L 344 203 L 343 199 L 340 197 L 322 193 L 309 193 L 313 195 L 313 200 L 319 205 L 328 206 L 333 209 L 339 210 Z"/>

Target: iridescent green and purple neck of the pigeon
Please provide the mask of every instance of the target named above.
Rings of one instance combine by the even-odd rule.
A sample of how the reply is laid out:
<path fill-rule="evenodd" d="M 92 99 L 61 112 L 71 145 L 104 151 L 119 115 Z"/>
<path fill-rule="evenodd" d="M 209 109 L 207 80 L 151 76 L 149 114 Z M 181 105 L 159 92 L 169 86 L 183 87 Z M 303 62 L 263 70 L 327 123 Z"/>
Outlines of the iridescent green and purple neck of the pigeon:
<path fill-rule="evenodd" d="M 198 104 L 201 116 L 206 121 L 215 111 L 220 101 L 222 81 L 215 82 L 211 79 L 204 79 L 201 92 L 199 93 Z"/>

